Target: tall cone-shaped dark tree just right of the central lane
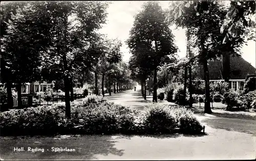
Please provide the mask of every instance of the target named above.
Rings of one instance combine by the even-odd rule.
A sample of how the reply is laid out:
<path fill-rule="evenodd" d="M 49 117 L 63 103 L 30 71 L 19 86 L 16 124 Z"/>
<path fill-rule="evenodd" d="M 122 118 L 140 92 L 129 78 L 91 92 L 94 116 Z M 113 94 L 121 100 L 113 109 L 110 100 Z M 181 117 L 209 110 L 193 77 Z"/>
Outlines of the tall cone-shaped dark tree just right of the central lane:
<path fill-rule="evenodd" d="M 132 76 L 142 86 L 144 99 L 146 79 L 153 75 L 153 102 L 157 102 L 157 70 L 162 63 L 176 60 L 177 47 L 161 6 L 157 2 L 147 2 L 142 8 L 135 16 L 130 37 L 126 41 L 132 53 L 129 63 Z"/>

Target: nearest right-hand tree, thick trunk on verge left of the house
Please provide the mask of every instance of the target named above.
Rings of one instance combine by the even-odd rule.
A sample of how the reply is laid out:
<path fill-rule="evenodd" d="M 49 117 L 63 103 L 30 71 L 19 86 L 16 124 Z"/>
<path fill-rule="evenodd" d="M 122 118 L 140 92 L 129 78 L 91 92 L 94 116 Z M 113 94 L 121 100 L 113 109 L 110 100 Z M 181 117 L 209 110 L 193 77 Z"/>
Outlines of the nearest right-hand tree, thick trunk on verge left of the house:
<path fill-rule="evenodd" d="M 216 59 L 222 55 L 230 55 L 231 53 L 240 52 L 241 44 L 244 43 L 244 37 L 233 37 L 228 42 L 223 43 L 223 39 L 226 37 L 228 31 L 219 30 L 227 14 L 227 9 L 217 2 L 201 2 L 209 6 L 209 14 L 199 14 L 194 6 L 198 7 L 197 1 L 193 2 L 193 5 L 187 6 L 186 9 L 172 8 L 170 10 L 170 16 L 177 26 L 182 28 L 188 28 L 190 30 L 190 36 L 195 36 L 194 43 L 200 49 L 198 55 L 198 61 L 204 67 L 204 79 L 205 79 L 205 113 L 211 113 L 210 110 L 210 91 L 209 91 L 209 73 L 207 61 L 209 59 Z M 209 5 L 210 4 L 210 5 Z M 200 13 L 205 13 L 203 8 L 200 8 Z M 178 16 L 177 12 L 178 11 Z M 182 16 L 181 12 L 182 11 Z M 243 30 L 245 33 L 245 29 Z"/>

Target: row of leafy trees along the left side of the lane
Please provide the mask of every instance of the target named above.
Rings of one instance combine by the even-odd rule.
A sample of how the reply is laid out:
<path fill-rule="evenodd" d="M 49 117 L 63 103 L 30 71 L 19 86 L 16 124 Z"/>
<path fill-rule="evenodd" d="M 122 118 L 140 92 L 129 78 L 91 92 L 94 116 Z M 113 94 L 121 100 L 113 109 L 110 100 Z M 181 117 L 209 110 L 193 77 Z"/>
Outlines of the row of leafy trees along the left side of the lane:
<path fill-rule="evenodd" d="M 109 80 L 121 77 L 120 84 L 127 81 L 123 76 L 127 73 L 115 69 L 117 63 L 122 64 L 121 42 L 97 32 L 105 23 L 109 4 L 1 3 L 1 82 L 6 84 L 10 106 L 13 85 L 18 92 L 18 106 L 22 106 L 23 84 L 63 79 L 66 115 L 70 118 L 74 78 L 93 71 L 95 77 L 102 75 L 102 82 L 105 75 Z"/>

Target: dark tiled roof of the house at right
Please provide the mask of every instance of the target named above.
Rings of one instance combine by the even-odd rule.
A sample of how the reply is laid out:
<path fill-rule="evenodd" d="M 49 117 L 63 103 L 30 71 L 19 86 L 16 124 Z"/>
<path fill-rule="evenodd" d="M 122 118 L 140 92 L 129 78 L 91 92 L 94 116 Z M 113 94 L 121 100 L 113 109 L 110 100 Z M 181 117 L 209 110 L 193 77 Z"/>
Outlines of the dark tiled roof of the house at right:
<path fill-rule="evenodd" d="M 208 61 L 208 70 L 210 80 L 223 79 L 222 59 Z M 248 74 L 256 74 L 256 69 L 242 57 L 230 56 L 230 79 L 245 79 Z M 204 79 L 202 65 L 198 65 L 196 76 Z"/>

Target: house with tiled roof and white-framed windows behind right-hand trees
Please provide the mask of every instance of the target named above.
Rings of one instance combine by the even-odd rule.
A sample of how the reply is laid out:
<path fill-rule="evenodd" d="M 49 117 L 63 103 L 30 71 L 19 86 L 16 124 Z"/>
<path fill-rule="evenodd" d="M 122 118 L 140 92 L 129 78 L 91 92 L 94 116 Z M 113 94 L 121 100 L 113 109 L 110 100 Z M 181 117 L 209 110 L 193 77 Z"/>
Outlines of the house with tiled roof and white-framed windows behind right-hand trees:
<path fill-rule="evenodd" d="M 223 61 L 224 60 L 224 61 Z M 225 81 L 225 76 L 229 76 L 229 87 L 234 90 L 243 89 L 245 77 L 255 75 L 256 69 L 244 60 L 241 56 L 230 56 L 229 74 L 224 74 L 225 57 L 208 61 L 209 81 Z M 196 77 L 204 80 L 204 70 L 202 65 L 198 65 Z"/>

